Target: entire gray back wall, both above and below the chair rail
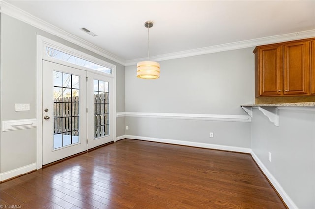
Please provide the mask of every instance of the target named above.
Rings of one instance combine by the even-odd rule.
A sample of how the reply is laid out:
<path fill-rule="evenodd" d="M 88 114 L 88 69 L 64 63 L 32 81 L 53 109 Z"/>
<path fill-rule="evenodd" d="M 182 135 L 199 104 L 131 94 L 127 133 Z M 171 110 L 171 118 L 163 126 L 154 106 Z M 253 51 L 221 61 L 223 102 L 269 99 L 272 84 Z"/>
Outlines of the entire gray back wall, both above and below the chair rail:
<path fill-rule="evenodd" d="M 161 61 L 157 80 L 139 79 L 136 66 L 126 66 L 126 112 L 246 115 L 240 105 L 254 102 L 252 50 Z M 126 117 L 125 123 L 126 135 L 250 148 L 246 122 Z"/>

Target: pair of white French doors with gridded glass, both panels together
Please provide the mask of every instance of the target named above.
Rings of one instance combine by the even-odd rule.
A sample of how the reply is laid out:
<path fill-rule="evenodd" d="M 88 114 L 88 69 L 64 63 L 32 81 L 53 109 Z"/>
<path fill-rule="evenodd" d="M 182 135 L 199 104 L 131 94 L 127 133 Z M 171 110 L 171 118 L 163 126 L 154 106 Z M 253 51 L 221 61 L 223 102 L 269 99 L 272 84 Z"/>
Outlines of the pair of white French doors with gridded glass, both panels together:
<path fill-rule="evenodd" d="M 43 60 L 43 165 L 114 141 L 113 78 Z"/>

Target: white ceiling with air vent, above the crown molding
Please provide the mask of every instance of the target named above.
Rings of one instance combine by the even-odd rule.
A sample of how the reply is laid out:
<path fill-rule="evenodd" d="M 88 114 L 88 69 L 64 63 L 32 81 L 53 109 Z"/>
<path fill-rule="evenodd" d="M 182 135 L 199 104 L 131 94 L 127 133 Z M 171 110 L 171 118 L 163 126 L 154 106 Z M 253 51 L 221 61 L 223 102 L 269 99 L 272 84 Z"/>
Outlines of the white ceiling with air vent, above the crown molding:
<path fill-rule="evenodd" d="M 152 57 L 315 29 L 315 0 L 6 2 L 126 62 L 147 58 L 147 20 Z"/>

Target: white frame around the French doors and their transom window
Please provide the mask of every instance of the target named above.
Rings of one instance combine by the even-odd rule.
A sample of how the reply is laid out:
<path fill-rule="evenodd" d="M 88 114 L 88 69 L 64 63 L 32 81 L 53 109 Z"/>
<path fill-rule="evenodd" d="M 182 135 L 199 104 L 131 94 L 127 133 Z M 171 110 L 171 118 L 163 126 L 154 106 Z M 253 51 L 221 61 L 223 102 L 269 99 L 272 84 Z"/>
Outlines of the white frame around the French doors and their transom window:
<path fill-rule="evenodd" d="M 36 131 L 36 144 L 37 144 L 37 153 L 36 153 L 36 168 L 40 169 L 42 168 L 42 118 L 43 118 L 43 114 L 42 114 L 42 61 L 43 60 L 47 60 L 50 62 L 54 62 L 54 63 L 58 63 L 58 64 L 62 64 L 65 66 L 69 66 L 69 67 L 73 67 L 73 68 L 77 68 L 80 70 L 86 70 L 89 72 L 93 72 L 95 74 L 100 74 L 100 75 L 105 75 L 108 77 L 112 77 L 113 78 L 113 121 L 111 122 L 111 126 L 113 126 L 113 140 L 116 141 L 116 65 L 113 65 L 111 63 L 108 63 L 104 60 L 98 59 L 94 56 L 91 56 L 89 54 L 86 54 L 84 52 L 81 52 L 79 50 L 73 49 L 71 47 L 68 47 L 66 45 L 63 45 L 59 42 L 53 41 L 49 38 L 43 37 L 41 35 L 36 35 L 36 39 L 37 39 L 37 56 L 36 56 L 36 71 L 37 71 L 37 82 L 36 82 L 36 87 L 37 87 L 37 91 L 36 91 L 36 120 L 37 120 L 37 131 Z M 91 70 L 85 67 L 81 67 L 75 64 L 71 64 L 62 60 L 57 60 L 55 58 L 51 58 L 46 56 L 45 53 L 45 48 L 46 46 L 52 47 L 54 49 L 63 51 L 67 54 L 71 54 L 74 55 L 76 57 L 91 61 L 91 62 L 95 62 L 98 63 L 100 65 L 106 66 L 108 68 L 112 69 L 112 74 L 106 74 L 103 72 L 99 72 L 96 70 Z"/>

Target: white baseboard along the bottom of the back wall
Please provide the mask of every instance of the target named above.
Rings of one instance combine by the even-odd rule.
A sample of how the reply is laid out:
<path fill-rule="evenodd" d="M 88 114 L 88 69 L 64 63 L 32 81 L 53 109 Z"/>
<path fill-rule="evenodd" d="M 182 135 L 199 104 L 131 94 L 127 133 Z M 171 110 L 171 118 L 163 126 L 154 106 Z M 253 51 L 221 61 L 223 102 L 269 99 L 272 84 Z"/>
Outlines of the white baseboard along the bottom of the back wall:
<path fill-rule="evenodd" d="M 159 139 L 159 138 L 141 137 L 141 136 L 134 136 L 134 135 L 125 135 L 125 138 L 138 139 L 138 140 L 144 140 L 144 141 L 161 142 L 161 143 L 169 143 L 169 144 L 177 144 L 177 145 L 185 145 L 185 146 L 193 146 L 193 147 L 200 147 L 200 148 L 207 148 L 207 149 L 218 149 L 218 150 L 233 151 L 233 152 L 243 152 L 243 153 L 251 153 L 252 152 L 252 150 L 250 148 L 244 148 L 244 147 L 225 146 L 225 145 L 218 145 L 218 144 L 207 144 L 207 143 L 181 141 L 181 140 L 173 140 L 173 139 Z"/>

